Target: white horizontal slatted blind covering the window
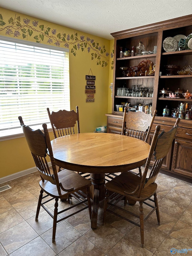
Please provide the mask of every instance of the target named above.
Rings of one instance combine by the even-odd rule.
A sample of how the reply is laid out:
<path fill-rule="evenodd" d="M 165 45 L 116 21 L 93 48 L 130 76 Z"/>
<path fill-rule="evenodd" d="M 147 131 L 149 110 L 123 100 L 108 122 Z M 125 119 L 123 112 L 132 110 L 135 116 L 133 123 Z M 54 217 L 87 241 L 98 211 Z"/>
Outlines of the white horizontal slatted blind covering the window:
<path fill-rule="evenodd" d="M 20 127 L 18 116 L 48 123 L 47 107 L 70 110 L 68 49 L 0 39 L 0 130 Z"/>

